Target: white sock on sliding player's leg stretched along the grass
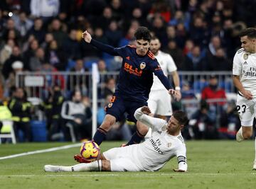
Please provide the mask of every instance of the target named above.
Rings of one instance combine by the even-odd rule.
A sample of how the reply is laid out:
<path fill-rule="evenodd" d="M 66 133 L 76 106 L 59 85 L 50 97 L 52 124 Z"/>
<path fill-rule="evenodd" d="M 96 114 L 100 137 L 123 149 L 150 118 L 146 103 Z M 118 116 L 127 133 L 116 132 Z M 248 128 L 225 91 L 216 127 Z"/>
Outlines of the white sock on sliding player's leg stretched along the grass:
<path fill-rule="evenodd" d="M 76 164 L 75 166 L 61 166 L 61 171 L 102 171 L 102 161 L 93 161 L 89 164 Z"/>

